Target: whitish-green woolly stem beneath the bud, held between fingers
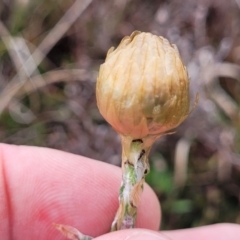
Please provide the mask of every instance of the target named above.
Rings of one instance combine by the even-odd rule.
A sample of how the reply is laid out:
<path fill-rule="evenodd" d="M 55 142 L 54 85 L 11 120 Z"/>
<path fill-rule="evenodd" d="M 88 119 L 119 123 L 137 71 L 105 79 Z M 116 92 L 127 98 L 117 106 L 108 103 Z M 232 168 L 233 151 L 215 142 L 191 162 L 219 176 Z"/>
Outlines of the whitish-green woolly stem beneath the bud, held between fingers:
<path fill-rule="evenodd" d="M 148 155 L 155 139 L 122 137 L 122 184 L 119 208 L 111 231 L 134 228 L 145 176 L 149 172 Z"/>

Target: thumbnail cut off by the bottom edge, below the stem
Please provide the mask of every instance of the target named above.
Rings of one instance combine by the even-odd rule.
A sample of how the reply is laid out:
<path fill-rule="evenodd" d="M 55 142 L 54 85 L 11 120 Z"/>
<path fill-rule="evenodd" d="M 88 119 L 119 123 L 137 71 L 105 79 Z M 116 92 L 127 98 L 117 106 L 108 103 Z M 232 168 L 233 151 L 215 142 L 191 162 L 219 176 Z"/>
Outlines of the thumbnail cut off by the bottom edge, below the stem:
<path fill-rule="evenodd" d="M 171 240 L 171 239 L 161 233 L 140 231 L 132 233 L 124 240 Z"/>

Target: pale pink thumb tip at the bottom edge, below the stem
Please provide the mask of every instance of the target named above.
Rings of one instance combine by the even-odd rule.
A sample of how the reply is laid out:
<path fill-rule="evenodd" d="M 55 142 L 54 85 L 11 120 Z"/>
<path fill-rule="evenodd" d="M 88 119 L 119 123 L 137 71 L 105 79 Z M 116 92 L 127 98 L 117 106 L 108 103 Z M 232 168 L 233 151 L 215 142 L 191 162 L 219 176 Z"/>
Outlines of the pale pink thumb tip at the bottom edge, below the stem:
<path fill-rule="evenodd" d="M 94 240 L 171 240 L 163 233 L 155 232 L 147 229 L 129 229 L 111 232 Z"/>

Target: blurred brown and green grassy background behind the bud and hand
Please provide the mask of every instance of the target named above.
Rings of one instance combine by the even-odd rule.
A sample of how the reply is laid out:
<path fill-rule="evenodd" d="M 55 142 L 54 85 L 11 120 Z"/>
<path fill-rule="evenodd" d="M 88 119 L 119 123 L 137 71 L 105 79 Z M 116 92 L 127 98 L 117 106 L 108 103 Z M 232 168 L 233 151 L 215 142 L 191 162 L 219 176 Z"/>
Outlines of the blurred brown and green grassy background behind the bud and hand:
<path fill-rule="evenodd" d="M 192 106 L 200 97 L 151 151 L 161 228 L 240 223 L 240 0 L 1 0 L 0 141 L 120 166 L 95 85 L 107 50 L 134 30 L 178 46 Z"/>

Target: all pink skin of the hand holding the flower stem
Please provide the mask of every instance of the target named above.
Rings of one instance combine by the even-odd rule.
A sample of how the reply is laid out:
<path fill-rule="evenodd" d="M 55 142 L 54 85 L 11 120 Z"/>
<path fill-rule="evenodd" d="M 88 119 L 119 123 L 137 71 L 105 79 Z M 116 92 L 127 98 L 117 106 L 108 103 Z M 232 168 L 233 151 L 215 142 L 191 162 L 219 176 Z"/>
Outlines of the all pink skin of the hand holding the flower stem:
<path fill-rule="evenodd" d="M 240 227 L 234 224 L 159 233 L 160 206 L 147 184 L 136 229 L 108 233 L 118 208 L 120 182 L 121 169 L 100 161 L 53 149 L 0 144 L 0 239 L 65 239 L 52 223 L 73 226 L 96 240 L 240 236 Z"/>

